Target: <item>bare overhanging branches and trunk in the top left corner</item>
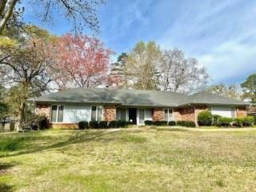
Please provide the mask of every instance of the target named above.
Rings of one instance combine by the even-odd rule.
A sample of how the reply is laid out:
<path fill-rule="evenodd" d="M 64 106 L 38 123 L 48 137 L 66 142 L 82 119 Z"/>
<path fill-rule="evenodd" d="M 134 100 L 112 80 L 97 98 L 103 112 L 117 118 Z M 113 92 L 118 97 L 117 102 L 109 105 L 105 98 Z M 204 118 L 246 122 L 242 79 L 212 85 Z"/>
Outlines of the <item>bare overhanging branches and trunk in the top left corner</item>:
<path fill-rule="evenodd" d="M 8 22 L 15 19 L 17 13 L 26 9 L 15 9 L 23 0 L 1 0 L 0 1 L 0 34 Z M 33 7 L 34 15 L 41 22 L 54 22 L 56 14 L 63 16 L 71 22 L 74 30 L 82 30 L 83 26 L 89 26 L 91 30 L 98 31 L 97 7 L 104 0 L 29 0 Z M 38 7 L 40 7 L 38 9 Z M 15 22 L 17 24 L 17 22 Z"/>

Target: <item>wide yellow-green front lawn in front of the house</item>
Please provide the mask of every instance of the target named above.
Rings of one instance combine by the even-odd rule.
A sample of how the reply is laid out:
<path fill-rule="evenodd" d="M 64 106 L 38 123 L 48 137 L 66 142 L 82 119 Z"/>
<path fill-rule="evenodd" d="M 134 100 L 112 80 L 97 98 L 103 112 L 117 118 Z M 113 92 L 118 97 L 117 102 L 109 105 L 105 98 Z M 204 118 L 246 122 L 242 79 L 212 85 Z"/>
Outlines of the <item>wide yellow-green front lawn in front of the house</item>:
<path fill-rule="evenodd" d="M 256 129 L 237 130 L 0 134 L 0 191 L 254 191 Z"/>

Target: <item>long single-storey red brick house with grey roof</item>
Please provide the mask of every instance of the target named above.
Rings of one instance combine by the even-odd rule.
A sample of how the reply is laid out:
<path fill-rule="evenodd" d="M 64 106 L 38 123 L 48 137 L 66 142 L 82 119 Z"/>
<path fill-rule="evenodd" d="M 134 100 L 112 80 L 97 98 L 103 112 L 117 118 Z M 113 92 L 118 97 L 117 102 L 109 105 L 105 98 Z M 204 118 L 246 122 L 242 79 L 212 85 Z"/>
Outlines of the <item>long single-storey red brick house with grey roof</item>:
<path fill-rule="evenodd" d="M 202 110 L 225 117 L 246 116 L 248 102 L 200 92 L 187 96 L 158 90 L 73 89 L 35 99 L 36 114 L 45 114 L 52 127 L 77 127 L 82 121 L 193 121 Z"/>

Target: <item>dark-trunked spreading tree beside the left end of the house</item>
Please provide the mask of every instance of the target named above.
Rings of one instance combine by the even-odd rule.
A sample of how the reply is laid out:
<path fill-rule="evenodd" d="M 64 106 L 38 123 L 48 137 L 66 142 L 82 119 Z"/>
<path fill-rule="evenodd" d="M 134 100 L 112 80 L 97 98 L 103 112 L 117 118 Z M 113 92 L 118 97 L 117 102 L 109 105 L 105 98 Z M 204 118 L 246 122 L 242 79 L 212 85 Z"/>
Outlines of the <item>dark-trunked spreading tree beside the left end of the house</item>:
<path fill-rule="evenodd" d="M 22 126 L 26 113 L 26 99 L 49 90 L 50 76 L 46 69 L 52 64 L 50 47 L 40 39 L 29 39 L 24 44 L 2 46 L 0 55 L 0 80 L 8 86 L 17 87 L 15 104 Z"/>

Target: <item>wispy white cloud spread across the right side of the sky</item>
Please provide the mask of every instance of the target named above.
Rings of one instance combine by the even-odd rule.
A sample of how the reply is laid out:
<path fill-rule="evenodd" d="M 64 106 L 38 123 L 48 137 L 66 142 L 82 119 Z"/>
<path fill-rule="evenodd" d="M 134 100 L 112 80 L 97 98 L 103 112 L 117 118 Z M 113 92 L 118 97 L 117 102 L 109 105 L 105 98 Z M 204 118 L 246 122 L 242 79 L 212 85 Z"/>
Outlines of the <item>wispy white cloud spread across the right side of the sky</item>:
<path fill-rule="evenodd" d="M 255 1 L 193 1 L 176 16 L 160 44 L 198 58 L 212 83 L 238 82 L 256 72 Z"/>

